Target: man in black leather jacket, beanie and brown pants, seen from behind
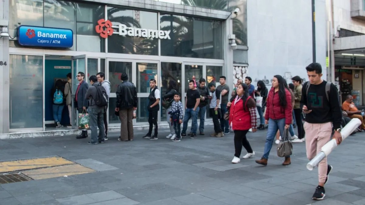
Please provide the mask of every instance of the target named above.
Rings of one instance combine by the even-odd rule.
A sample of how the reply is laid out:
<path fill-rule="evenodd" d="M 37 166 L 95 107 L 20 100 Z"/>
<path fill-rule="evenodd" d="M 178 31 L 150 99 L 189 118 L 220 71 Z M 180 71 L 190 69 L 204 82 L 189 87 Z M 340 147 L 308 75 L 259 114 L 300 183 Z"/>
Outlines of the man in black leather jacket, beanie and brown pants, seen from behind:
<path fill-rule="evenodd" d="M 120 138 L 119 141 L 133 140 L 133 111 L 137 110 L 137 88 L 128 81 L 127 73 L 120 76 L 122 83 L 116 91 L 115 111 L 119 112 Z"/>

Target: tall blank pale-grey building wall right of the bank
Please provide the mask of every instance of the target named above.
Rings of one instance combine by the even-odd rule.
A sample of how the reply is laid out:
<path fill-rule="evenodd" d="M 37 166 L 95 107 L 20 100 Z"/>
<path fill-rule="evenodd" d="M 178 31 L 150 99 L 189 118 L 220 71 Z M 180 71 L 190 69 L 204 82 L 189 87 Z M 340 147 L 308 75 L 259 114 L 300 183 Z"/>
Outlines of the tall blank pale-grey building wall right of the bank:
<path fill-rule="evenodd" d="M 340 0 L 341 1 L 341 0 Z M 326 4 L 315 1 L 316 62 L 326 79 Z M 271 87 L 274 75 L 291 82 L 293 76 L 307 81 L 306 66 L 312 57 L 312 4 L 310 0 L 247 0 L 247 73 Z"/>

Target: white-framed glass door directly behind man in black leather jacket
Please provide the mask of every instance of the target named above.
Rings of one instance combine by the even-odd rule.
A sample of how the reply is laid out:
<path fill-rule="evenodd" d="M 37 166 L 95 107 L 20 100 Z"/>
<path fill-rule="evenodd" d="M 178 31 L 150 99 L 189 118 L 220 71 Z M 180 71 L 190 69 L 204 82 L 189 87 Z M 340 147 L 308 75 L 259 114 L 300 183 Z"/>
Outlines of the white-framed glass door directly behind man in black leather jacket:
<path fill-rule="evenodd" d="M 110 127 L 120 126 L 119 116 L 115 115 L 116 106 L 116 90 L 121 83 L 120 76 L 122 73 L 127 73 L 128 81 L 134 82 L 133 62 L 130 59 L 114 59 L 107 58 L 106 76 L 110 82 L 110 97 L 107 111 L 108 124 Z"/>

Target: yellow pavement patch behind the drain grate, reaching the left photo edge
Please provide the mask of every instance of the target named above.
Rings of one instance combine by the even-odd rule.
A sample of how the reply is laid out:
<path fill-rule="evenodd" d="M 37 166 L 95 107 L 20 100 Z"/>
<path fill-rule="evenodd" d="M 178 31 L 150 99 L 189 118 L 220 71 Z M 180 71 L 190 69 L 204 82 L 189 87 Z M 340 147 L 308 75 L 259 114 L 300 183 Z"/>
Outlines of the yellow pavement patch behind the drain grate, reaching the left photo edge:
<path fill-rule="evenodd" d="M 70 164 L 74 164 L 74 162 L 59 156 L 0 162 L 0 173 Z"/>

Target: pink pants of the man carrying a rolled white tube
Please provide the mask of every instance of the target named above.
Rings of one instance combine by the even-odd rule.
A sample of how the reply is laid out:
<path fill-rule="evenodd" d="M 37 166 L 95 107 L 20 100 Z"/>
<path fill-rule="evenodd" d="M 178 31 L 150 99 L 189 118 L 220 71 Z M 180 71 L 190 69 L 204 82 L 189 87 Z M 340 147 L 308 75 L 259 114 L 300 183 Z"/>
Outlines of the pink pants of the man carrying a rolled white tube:
<path fill-rule="evenodd" d="M 305 122 L 303 124 L 306 132 L 306 149 L 307 158 L 313 159 L 320 151 L 324 144 L 331 139 L 332 123 L 313 124 Z M 327 177 L 327 158 L 325 157 L 318 165 L 319 182 L 324 183 Z"/>

